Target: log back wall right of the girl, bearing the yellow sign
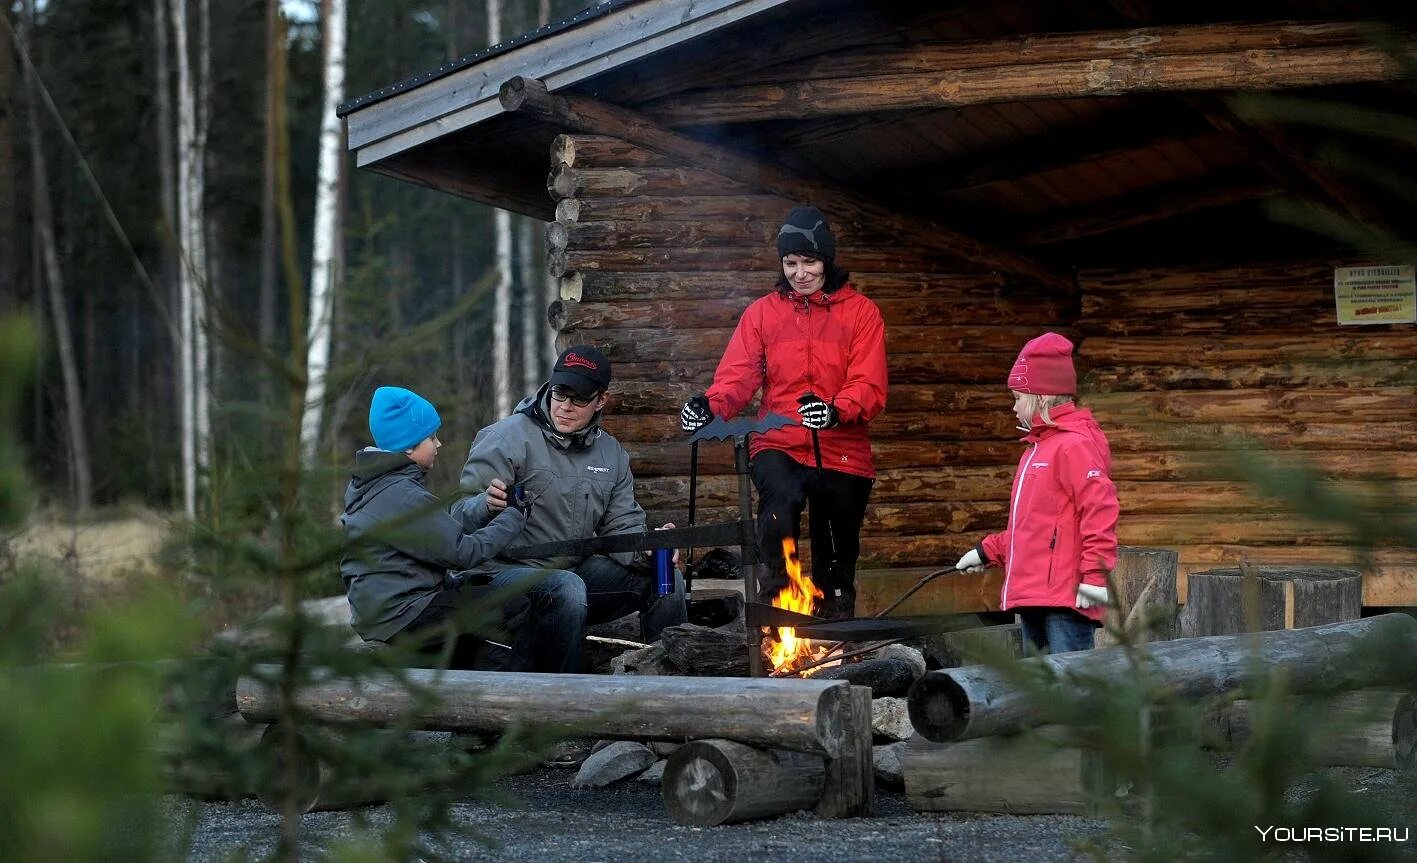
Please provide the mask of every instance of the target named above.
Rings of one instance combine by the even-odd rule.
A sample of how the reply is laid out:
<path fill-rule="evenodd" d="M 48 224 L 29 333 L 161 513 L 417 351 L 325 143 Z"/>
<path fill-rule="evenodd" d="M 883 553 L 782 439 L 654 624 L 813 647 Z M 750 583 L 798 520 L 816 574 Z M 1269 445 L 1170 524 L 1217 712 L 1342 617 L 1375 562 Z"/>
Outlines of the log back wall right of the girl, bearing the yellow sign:
<path fill-rule="evenodd" d="M 1083 401 L 1112 442 L 1124 544 L 1217 565 L 1348 565 L 1363 605 L 1417 605 L 1417 550 L 1305 519 L 1255 479 L 1316 470 L 1384 526 L 1417 521 L 1417 327 L 1338 326 L 1333 266 L 1083 272 Z M 1264 455 L 1237 451 L 1258 445 Z M 1292 486 L 1291 486 L 1292 487 Z M 1411 540 L 1408 540 L 1410 543 Z"/>

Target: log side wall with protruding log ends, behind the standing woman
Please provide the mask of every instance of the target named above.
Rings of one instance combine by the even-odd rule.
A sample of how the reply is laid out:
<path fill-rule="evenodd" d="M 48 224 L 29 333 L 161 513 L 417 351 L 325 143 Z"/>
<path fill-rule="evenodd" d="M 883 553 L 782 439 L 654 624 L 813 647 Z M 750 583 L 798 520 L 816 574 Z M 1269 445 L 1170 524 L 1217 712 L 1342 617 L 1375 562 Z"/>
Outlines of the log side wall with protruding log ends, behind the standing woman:
<path fill-rule="evenodd" d="M 547 244 L 561 281 L 551 323 L 563 347 L 592 343 L 611 359 L 605 427 L 631 453 L 650 521 L 683 524 L 689 445 L 679 407 L 708 385 L 738 316 L 772 289 L 777 231 L 799 201 L 599 136 L 558 137 L 551 163 L 557 221 Z M 966 272 L 888 231 L 828 217 L 837 261 L 887 325 L 890 397 L 873 422 L 880 475 L 859 575 L 873 611 L 918 577 L 901 568 L 954 563 L 1003 526 L 1017 459 L 1003 380 L 1019 346 L 1071 312 L 1057 292 Z M 704 445 L 697 517 L 735 513 L 731 448 Z M 959 577 L 931 585 L 911 608 L 996 604 L 996 584 Z"/>

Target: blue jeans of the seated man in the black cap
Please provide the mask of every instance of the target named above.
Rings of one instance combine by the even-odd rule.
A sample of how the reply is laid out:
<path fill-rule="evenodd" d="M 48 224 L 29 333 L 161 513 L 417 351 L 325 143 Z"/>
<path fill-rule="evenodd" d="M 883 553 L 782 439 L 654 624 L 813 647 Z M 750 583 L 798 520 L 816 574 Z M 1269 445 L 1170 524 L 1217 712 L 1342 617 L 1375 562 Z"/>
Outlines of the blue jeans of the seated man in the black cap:
<path fill-rule="evenodd" d="M 580 672 L 587 624 L 604 624 L 638 611 L 640 641 L 649 643 L 666 626 L 689 619 L 682 572 L 674 571 L 674 592 L 660 597 L 648 567 L 623 567 L 602 555 L 582 560 L 575 571 L 503 570 L 492 584 L 527 585 L 529 619 L 514 649 L 530 655 L 533 672 Z"/>

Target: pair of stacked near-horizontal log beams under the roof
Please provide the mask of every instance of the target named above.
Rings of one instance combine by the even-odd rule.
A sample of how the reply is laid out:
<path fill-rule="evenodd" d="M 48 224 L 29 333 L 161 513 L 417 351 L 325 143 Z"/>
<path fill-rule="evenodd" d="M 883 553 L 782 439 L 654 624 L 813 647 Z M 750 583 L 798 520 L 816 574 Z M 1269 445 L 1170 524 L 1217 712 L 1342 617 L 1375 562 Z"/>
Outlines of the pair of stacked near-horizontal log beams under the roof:
<path fill-rule="evenodd" d="M 1275 38 L 1295 30 L 1291 24 L 1268 27 Z M 1326 27 L 1335 28 L 1323 31 L 1329 40 L 1356 33 L 1349 24 Z M 1036 37 L 1049 44 L 1043 62 L 1020 40 L 955 43 L 949 60 L 941 60 L 949 68 L 924 71 L 913 68 L 922 65 L 918 48 L 900 50 L 903 57 L 894 64 L 890 52 L 870 51 L 870 62 L 853 75 L 689 91 L 640 109 L 666 126 L 696 126 L 1135 92 L 1318 86 L 1390 81 L 1400 72 L 1384 51 L 1362 43 L 1234 48 L 1248 45 L 1260 31 L 1231 26 L 1168 28 L 1170 40 L 1149 28 Z M 1248 38 L 1240 38 L 1241 33 Z M 1010 51 L 1013 62 L 1000 62 Z M 1061 60 L 1067 51 L 1073 60 Z M 894 71 L 881 74 L 880 68 Z"/>

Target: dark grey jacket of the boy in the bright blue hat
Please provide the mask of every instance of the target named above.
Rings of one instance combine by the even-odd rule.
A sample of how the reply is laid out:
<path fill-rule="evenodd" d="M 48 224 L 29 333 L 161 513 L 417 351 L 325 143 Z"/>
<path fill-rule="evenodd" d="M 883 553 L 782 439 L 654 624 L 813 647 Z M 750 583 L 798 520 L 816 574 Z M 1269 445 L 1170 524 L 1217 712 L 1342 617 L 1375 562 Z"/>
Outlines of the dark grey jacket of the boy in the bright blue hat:
<path fill-rule="evenodd" d="M 476 533 L 463 533 L 401 452 L 364 449 L 344 490 L 344 536 L 356 543 L 340 577 L 366 641 L 388 641 L 428 607 L 449 571 L 472 570 L 507 547 L 526 520 L 507 507 Z"/>

